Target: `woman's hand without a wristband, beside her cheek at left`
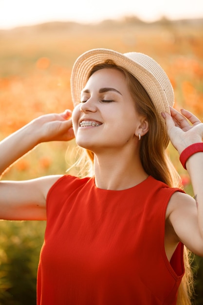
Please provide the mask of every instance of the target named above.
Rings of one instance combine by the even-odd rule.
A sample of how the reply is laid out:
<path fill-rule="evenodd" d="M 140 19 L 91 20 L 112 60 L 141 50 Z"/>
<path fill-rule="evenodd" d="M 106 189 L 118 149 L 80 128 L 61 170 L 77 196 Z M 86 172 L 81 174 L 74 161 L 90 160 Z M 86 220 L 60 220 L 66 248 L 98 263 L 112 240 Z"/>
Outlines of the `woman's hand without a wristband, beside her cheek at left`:
<path fill-rule="evenodd" d="M 72 112 L 65 110 L 60 114 L 45 114 L 37 117 L 30 124 L 38 133 L 38 143 L 49 141 L 69 141 L 74 138 Z"/>

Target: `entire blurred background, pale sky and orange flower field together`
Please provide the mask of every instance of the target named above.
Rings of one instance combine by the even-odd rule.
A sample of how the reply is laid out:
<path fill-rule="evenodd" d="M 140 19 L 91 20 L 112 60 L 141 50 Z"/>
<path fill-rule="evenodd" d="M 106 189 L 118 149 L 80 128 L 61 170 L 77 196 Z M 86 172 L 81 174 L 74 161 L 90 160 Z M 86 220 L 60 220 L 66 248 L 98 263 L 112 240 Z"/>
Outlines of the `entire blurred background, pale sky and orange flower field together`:
<path fill-rule="evenodd" d="M 175 108 L 203 119 L 202 0 L 67 2 L 0 0 L 0 139 L 41 114 L 73 109 L 74 60 L 100 47 L 153 57 L 170 78 Z M 193 195 L 187 172 L 170 145 L 168 153 L 185 191 Z M 4 179 L 64 174 L 74 161 L 74 140 L 44 143 L 20 159 Z M 0 305 L 36 305 L 44 230 L 43 221 L 0 221 Z M 191 264 L 194 304 L 202 305 L 203 259 L 191 256 Z"/>

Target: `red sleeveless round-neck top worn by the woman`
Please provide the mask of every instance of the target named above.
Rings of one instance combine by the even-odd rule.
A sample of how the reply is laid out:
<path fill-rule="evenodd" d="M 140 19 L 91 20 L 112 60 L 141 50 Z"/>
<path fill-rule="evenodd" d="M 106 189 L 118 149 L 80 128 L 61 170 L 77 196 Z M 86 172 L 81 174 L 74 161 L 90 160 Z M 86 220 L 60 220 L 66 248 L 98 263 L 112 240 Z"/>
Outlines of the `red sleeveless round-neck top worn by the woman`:
<path fill-rule="evenodd" d="M 38 305 L 175 305 L 183 244 L 164 248 L 171 189 L 149 176 L 123 191 L 60 178 L 48 193 Z"/>

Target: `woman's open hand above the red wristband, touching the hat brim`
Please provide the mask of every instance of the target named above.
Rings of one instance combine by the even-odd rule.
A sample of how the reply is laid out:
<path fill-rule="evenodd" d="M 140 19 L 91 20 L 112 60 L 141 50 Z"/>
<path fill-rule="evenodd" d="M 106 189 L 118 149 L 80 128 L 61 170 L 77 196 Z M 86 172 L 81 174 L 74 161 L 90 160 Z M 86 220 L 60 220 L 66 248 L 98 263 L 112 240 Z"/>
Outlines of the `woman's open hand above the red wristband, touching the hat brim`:
<path fill-rule="evenodd" d="M 171 115 L 164 113 L 167 133 L 171 143 L 181 153 L 187 146 L 203 141 L 203 123 L 192 113 L 181 113 L 170 107 Z"/>

